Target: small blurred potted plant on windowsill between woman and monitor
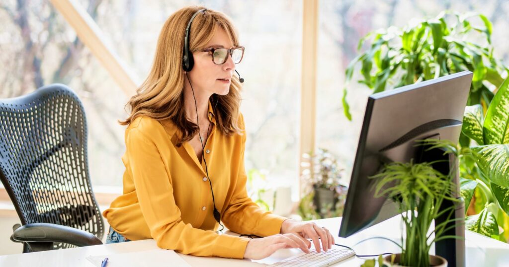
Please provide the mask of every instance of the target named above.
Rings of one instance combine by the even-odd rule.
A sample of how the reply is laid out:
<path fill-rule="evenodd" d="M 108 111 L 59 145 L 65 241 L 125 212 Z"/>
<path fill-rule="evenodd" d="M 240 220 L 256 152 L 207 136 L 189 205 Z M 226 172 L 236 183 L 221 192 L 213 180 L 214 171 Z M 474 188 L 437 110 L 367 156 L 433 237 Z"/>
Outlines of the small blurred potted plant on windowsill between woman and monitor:
<path fill-rule="evenodd" d="M 302 165 L 306 168 L 301 174 L 303 198 L 299 203 L 299 215 L 303 220 L 341 216 L 347 193 L 342 183 L 344 169 L 325 149 L 302 157 Z"/>

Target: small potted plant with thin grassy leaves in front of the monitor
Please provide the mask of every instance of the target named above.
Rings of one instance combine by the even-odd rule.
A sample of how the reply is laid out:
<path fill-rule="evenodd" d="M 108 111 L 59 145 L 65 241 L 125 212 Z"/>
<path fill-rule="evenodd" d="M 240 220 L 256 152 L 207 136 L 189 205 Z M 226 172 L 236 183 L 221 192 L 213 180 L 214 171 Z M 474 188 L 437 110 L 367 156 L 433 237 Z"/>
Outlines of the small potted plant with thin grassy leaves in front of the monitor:
<path fill-rule="evenodd" d="M 429 139 L 422 141 L 437 147 L 450 148 L 450 142 Z M 446 153 L 454 150 L 445 150 Z M 384 258 L 387 266 L 447 266 L 447 261 L 430 255 L 434 242 L 454 236 L 444 235 L 452 221 L 454 206 L 442 207 L 445 200 L 458 201 L 454 197 L 454 170 L 444 174 L 433 168 L 436 162 L 408 163 L 392 162 L 385 164 L 380 172 L 371 176 L 375 181 L 375 197 L 385 197 L 394 201 L 402 213 L 405 230 L 401 236 L 401 254 Z M 457 169 L 456 169 L 457 170 Z M 435 225 L 430 232 L 432 222 L 446 215 L 444 222 Z"/>

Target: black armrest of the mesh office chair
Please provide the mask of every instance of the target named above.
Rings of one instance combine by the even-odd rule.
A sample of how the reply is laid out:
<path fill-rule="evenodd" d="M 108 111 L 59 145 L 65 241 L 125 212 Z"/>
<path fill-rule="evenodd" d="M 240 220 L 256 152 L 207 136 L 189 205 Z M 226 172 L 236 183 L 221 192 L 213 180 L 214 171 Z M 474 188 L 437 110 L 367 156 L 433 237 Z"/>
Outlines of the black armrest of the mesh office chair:
<path fill-rule="evenodd" d="M 81 229 L 52 223 L 30 223 L 16 230 L 12 238 L 21 242 L 62 242 L 78 247 L 101 245 L 95 235 Z"/>

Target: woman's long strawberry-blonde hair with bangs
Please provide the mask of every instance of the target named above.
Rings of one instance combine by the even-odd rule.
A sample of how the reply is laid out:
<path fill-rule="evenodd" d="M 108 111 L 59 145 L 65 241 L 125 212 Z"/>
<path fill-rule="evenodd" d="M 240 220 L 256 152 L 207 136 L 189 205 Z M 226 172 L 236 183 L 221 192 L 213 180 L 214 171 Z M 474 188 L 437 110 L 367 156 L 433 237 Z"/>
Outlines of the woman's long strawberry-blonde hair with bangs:
<path fill-rule="evenodd" d="M 182 132 L 177 146 L 189 141 L 199 131 L 198 125 L 187 120 L 184 109 L 184 70 L 182 55 L 184 32 L 191 16 L 205 7 L 186 7 L 173 13 L 164 23 L 157 40 L 156 54 L 152 69 L 136 95 L 126 104 L 130 115 L 121 125 L 129 125 L 138 116 L 148 116 L 157 121 L 171 120 Z M 200 12 L 191 23 L 189 49 L 195 52 L 204 49 L 218 28 L 223 29 L 238 46 L 238 38 L 232 22 L 223 13 L 213 10 Z M 241 133 L 237 125 L 240 106 L 240 82 L 232 77 L 227 95 L 211 97 L 218 130 L 225 135 Z"/>

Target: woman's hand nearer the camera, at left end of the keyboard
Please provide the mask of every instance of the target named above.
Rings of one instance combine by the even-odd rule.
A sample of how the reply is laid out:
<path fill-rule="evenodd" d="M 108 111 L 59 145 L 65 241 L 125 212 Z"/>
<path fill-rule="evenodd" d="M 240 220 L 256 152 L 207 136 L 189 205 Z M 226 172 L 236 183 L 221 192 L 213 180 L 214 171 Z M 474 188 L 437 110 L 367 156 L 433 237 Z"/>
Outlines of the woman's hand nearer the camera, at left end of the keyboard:
<path fill-rule="evenodd" d="M 306 243 L 307 242 L 307 243 Z M 263 259 L 279 249 L 300 248 L 309 253 L 311 243 L 293 233 L 274 234 L 266 238 L 251 239 L 247 243 L 244 258 Z"/>

